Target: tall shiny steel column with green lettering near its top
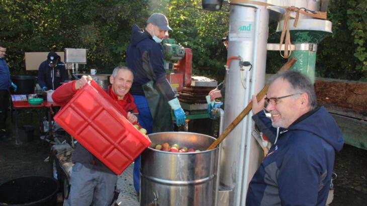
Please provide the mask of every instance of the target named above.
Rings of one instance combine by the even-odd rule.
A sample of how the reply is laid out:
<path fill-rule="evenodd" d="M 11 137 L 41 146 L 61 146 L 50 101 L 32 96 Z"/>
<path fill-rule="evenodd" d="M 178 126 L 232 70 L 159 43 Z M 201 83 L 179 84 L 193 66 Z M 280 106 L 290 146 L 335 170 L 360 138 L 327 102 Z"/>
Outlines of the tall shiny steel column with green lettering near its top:
<path fill-rule="evenodd" d="M 243 61 L 250 61 L 254 64 L 257 61 L 256 70 L 251 70 L 250 72 L 256 72 L 256 77 L 258 79 L 251 79 L 251 73 L 242 71 L 241 65 L 237 64 L 237 60 L 232 60 L 230 62 L 229 73 L 226 77 L 226 107 L 225 117 L 224 117 L 224 127 L 227 127 L 232 121 L 233 117 L 238 115 L 239 111 L 242 111 L 250 100 L 250 81 L 256 83 L 255 90 L 260 90 L 264 79 L 263 75 L 257 73 L 265 71 L 265 57 L 266 57 L 266 39 L 267 39 L 267 22 L 268 22 L 268 12 L 265 7 L 261 7 L 263 10 L 258 9 L 252 5 L 240 5 L 231 4 L 230 12 L 230 25 L 229 25 L 229 48 L 228 57 L 231 56 L 241 56 Z M 257 13 L 260 13 L 260 18 Z M 256 19 L 257 18 L 257 19 Z M 257 24 L 257 25 L 255 25 Z M 260 29 L 256 29 L 255 27 Z M 256 44 L 254 43 L 256 41 Z M 254 45 L 258 48 L 254 50 Z M 254 51 L 257 53 L 257 57 L 254 57 Z M 246 72 L 246 81 L 243 82 L 244 86 L 241 85 L 241 79 L 243 81 L 244 77 L 240 78 L 239 72 Z M 259 85 L 257 85 L 259 84 Z M 245 89 L 247 85 L 247 90 Z M 243 182 L 243 172 L 244 172 L 244 162 L 245 162 L 245 149 L 246 149 L 246 129 L 243 127 L 247 124 L 243 120 L 241 124 L 238 124 L 236 128 L 233 129 L 231 133 L 228 134 L 227 138 L 222 143 L 221 152 L 221 171 L 220 180 L 221 185 L 227 187 L 228 194 L 225 198 L 227 200 L 219 199 L 220 202 L 225 203 L 225 205 L 242 205 L 241 204 L 241 193 L 242 193 L 242 182 Z M 257 160 L 250 160 L 250 171 L 252 167 L 257 167 Z M 256 164 L 256 165 L 252 165 Z M 247 174 L 247 173 L 246 173 Z M 243 188 L 245 189 L 245 187 Z M 220 193 L 221 194 L 221 193 Z M 221 198 L 221 197 L 219 197 Z"/>

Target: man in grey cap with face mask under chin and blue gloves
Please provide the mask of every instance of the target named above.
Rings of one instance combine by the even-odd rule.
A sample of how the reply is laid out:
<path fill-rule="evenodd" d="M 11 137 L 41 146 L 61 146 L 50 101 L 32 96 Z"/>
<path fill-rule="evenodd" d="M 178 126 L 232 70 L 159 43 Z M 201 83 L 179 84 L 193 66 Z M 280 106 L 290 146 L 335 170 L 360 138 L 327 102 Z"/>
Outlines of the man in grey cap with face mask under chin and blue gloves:
<path fill-rule="evenodd" d="M 127 49 L 126 65 L 134 72 L 134 83 L 130 89 L 139 111 L 139 124 L 149 133 L 173 131 L 171 111 L 176 124 L 185 123 L 185 112 L 172 90 L 164 70 L 162 39 L 172 29 L 161 13 L 152 14 L 145 31 L 133 26 Z M 140 157 L 134 164 L 134 187 L 139 192 Z"/>

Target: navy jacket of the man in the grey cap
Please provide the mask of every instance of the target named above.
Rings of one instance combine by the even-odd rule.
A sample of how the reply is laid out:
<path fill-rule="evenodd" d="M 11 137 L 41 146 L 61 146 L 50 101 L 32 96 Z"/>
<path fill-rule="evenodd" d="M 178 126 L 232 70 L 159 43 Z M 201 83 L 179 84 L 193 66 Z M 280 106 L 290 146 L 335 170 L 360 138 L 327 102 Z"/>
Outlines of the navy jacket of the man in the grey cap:
<path fill-rule="evenodd" d="M 161 44 L 156 43 L 148 32 L 142 31 L 137 25 L 133 26 L 126 51 L 126 66 L 134 73 L 131 94 L 144 95 L 141 85 L 153 80 L 167 100 L 175 97 L 166 78 Z"/>

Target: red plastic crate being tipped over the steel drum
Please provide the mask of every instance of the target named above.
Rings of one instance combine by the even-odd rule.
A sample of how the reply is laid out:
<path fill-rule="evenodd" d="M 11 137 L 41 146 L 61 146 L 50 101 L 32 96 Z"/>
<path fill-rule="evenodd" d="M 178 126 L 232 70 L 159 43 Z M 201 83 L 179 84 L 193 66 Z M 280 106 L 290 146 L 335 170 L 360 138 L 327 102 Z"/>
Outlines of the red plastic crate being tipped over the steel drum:
<path fill-rule="evenodd" d="M 116 174 L 121 174 L 151 142 L 95 81 L 85 84 L 54 120 Z"/>

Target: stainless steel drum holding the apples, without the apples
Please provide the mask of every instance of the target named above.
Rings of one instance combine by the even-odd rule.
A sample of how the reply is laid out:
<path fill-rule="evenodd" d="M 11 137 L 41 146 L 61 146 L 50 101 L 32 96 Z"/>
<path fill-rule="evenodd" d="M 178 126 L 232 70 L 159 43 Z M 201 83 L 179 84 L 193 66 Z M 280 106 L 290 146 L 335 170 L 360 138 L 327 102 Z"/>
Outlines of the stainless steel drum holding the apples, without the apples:
<path fill-rule="evenodd" d="M 148 136 L 152 145 L 167 142 L 202 151 L 172 153 L 152 148 L 144 150 L 141 154 L 140 205 L 213 205 L 218 148 L 205 149 L 215 138 L 189 132 L 163 132 Z"/>

